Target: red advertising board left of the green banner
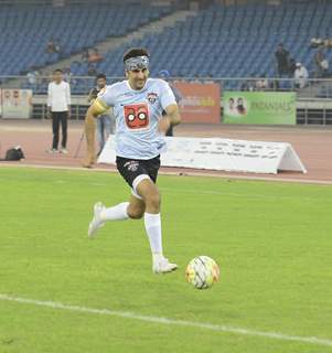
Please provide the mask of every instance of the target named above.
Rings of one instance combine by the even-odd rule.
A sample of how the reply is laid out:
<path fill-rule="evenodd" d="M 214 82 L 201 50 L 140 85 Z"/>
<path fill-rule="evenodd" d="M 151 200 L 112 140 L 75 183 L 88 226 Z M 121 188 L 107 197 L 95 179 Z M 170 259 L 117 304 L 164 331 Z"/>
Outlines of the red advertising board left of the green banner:
<path fill-rule="evenodd" d="M 221 86 L 214 83 L 176 82 L 182 100 L 179 103 L 183 122 L 221 122 Z"/>

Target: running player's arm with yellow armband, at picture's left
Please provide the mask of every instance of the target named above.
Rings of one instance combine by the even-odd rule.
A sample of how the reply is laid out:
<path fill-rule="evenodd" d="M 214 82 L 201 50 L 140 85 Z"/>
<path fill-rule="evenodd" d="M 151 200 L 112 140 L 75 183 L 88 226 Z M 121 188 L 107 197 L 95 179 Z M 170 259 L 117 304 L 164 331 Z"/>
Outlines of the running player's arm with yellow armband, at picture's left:
<path fill-rule="evenodd" d="M 87 157 L 83 163 L 84 167 L 90 168 L 95 162 L 95 119 L 109 107 L 98 98 L 89 106 L 85 115 L 85 136 L 87 143 Z"/>

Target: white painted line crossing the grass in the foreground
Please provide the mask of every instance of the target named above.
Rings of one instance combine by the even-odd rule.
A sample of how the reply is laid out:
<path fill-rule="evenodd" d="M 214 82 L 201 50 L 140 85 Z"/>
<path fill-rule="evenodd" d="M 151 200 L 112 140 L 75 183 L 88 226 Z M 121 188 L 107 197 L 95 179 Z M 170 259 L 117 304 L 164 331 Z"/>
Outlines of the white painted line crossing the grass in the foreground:
<path fill-rule="evenodd" d="M 159 323 L 159 324 L 165 324 L 165 325 L 196 328 L 196 329 L 211 330 L 216 332 L 234 333 L 239 335 L 261 336 L 261 338 L 274 339 L 279 341 L 292 341 L 292 342 L 299 342 L 299 343 L 332 346 L 331 339 L 318 339 L 315 336 L 290 335 L 290 334 L 285 334 L 280 332 L 256 331 L 256 330 L 235 328 L 235 327 L 229 327 L 224 324 L 213 324 L 208 322 L 194 322 L 194 321 L 176 320 L 176 319 L 169 319 L 169 318 L 162 318 L 162 317 L 150 317 L 150 315 L 142 315 L 135 312 L 72 306 L 72 304 L 65 304 L 56 301 L 44 301 L 44 300 L 35 300 L 35 299 L 29 299 L 29 298 L 20 298 L 20 297 L 9 296 L 4 293 L 3 295 L 0 293 L 0 300 L 20 302 L 23 304 L 32 304 L 38 307 L 46 307 L 52 309 L 75 311 L 75 312 L 126 318 L 126 319 L 132 319 L 132 320 L 139 320 L 139 321 L 146 321 L 146 322 Z"/>

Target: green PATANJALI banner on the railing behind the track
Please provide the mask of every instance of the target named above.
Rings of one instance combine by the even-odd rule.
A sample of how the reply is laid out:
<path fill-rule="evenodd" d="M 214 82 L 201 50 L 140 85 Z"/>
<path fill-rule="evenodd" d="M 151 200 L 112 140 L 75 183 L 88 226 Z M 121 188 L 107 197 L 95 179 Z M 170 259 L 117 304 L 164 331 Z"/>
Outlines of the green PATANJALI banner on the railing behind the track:
<path fill-rule="evenodd" d="M 225 124 L 296 125 L 296 93 L 224 92 Z"/>

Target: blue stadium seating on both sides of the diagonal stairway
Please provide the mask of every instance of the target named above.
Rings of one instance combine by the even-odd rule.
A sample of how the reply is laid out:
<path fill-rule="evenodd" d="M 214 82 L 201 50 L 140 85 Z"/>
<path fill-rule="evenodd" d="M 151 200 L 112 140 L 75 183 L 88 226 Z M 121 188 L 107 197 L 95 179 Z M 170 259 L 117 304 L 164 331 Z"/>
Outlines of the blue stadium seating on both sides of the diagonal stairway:
<path fill-rule="evenodd" d="M 140 6 L 3 9 L 0 13 L 1 74 L 14 75 L 56 63 L 62 56 L 93 47 L 109 36 L 124 36 L 170 12 L 168 7 Z M 168 69 L 178 77 L 275 77 L 275 51 L 282 42 L 290 56 L 301 62 L 313 77 L 315 50 L 310 47 L 310 40 L 332 38 L 331 23 L 332 3 L 328 1 L 288 1 L 282 6 L 213 4 L 160 34 L 147 34 L 142 40 L 103 53 L 104 61 L 96 69 L 108 76 L 122 76 L 124 51 L 128 46 L 146 46 L 152 53 L 152 75 Z M 45 53 L 50 38 L 58 40 L 61 53 Z M 332 62 L 332 50 L 325 55 Z M 86 75 L 87 63 L 74 62 L 71 71 L 73 75 Z M 81 93 L 86 83 L 81 84 L 73 86 L 75 93 Z M 223 85 L 238 89 L 240 82 L 224 81 Z M 280 85 L 282 89 L 291 87 L 287 81 Z M 43 92 L 45 85 L 39 89 Z M 322 86 L 318 96 L 330 95 L 330 87 Z"/>

